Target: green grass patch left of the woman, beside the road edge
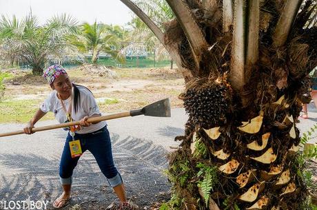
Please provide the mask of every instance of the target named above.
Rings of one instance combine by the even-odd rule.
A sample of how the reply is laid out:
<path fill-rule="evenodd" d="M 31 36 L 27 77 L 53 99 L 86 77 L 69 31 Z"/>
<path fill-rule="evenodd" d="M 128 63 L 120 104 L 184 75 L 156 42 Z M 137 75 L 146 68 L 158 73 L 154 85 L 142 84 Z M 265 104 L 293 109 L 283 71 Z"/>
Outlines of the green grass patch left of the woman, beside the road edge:
<path fill-rule="evenodd" d="M 38 100 L 6 100 L 0 102 L 0 123 L 27 123 L 37 112 L 42 101 Z M 52 120 L 52 112 L 46 114 L 42 120 Z"/>

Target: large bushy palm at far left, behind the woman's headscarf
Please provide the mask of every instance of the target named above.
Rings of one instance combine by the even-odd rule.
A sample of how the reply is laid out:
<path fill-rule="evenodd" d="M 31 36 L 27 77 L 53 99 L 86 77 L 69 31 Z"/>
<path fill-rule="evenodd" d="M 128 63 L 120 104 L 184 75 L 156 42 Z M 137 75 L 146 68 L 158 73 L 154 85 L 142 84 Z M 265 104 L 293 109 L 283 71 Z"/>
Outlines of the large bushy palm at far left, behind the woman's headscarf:
<path fill-rule="evenodd" d="M 28 14 L 19 21 L 16 17 L 0 19 L 0 53 L 2 59 L 22 61 L 32 67 L 33 74 L 43 74 L 50 59 L 62 59 L 73 49 L 65 37 L 76 32 L 76 20 L 61 14 L 39 25 L 37 17 Z"/>

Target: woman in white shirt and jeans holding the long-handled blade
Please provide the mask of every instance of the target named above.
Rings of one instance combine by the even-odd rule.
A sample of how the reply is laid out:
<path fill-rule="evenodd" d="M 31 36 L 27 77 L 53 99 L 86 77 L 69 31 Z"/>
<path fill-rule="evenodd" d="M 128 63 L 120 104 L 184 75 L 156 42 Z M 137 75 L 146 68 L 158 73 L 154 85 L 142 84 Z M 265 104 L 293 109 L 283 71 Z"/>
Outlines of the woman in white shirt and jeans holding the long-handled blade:
<path fill-rule="evenodd" d="M 54 116 L 59 123 L 76 120 L 80 121 L 81 125 L 68 128 L 70 132 L 66 137 L 59 165 L 63 193 L 54 201 L 53 207 L 59 209 L 68 204 L 71 197 L 73 170 L 81 152 L 89 150 L 96 158 L 96 162 L 108 179 L 110 186 L 113 187 L 116 196 L 120 200 L 120 205 L 134 209 L 132 207 L 134 204 L 128 203 L 125 198 L 123 180 L 112 160 L 112 148 L 107 124 L 105 121 L 95 124 L 87 122 L 89 118 L 101 116 L 92 92 L 86 87 L 71 83 L 67 72 L 61 65 L 48 67 L 43 77 L 46 78 L 53 91 L 24 128 L 25 134 L 32 134 L 32 127 L 49 111 L 54 112 Z M 74 144 L 74 140 L 79 140 L 77 142 L 79 145 Z"/>

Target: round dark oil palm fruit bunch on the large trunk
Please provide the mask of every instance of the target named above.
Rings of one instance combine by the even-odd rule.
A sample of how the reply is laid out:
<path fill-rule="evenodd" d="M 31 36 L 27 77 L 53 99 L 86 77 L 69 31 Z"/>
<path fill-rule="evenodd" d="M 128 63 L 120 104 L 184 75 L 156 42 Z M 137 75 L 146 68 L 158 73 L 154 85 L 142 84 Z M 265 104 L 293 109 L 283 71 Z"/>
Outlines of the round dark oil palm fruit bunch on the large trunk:
<path fill-rule="evenodd" d="M 232 89 L 225 78 L 203 78 L 188 83 L 179 98 L 194 125 L 204 128 L 223 125 L 231 110 Z"/>

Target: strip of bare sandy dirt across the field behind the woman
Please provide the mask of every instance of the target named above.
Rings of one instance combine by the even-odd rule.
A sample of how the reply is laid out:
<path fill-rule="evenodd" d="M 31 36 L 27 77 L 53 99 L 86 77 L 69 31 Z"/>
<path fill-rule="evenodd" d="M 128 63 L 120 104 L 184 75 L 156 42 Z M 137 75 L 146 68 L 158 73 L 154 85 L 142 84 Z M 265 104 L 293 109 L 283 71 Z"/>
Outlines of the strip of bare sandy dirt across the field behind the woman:
<path fill-rule="evenodd" d="M 5 81 L 6 95 L 12 99 L 36 99 L 47 96 L 51 91 L 42 76 L 34 76 L 30 71 L 2 70 L 10 72 L 14 78 Z M 160 90 L 183 90 L 183 78 L 176 69 L 119 69 L 111 70 L 115 77 L 94 74 L 88 68 L 74 67 L 68 70 L 71 81 L 84 85 L 92 90 L 96 96 L 109 95 L 111 92 L 134 92 L 144 90 L 145 87 Z"/>

